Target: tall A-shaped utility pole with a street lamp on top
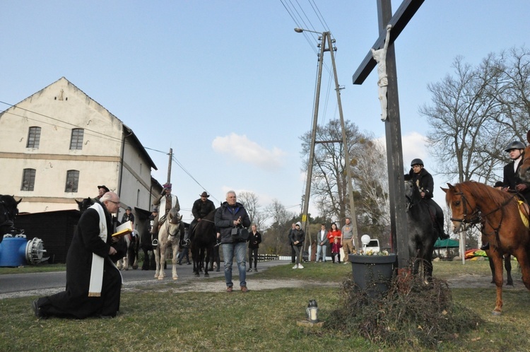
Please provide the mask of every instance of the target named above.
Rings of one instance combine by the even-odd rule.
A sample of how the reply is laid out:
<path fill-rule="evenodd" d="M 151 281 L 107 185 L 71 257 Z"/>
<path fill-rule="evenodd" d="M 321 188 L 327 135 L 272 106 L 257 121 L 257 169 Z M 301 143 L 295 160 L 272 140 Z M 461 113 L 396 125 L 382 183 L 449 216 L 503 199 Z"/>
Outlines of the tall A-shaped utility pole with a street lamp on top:
<path fill-rule="evenodd" d="M 302 33 L 302 32 L 312 32 L 312 33 L 318 33 L 314 32 L 312 30 L 305 30 L 301 28 L 295 28 L 295 32 Z M 318 111 L 319 111 L 319 100 L 320 100 L 320 86 L 322 83 L 322 65 L 324 62 L 324 52 L 330 52 L 331 54 L 331 64 L 333 66 L 333 74 L 334 74 L 334 80 L 335 80 L 335 90 L 337 94 L 337 102 L 338 102 L 338 112 L 341 119 L 341 129 L 342 129 L 342 143 L 344 148 L 344 163 L 346 167 L 346 183 L 348 184 L 348 196 L 350 199 L 350 212 L 351 212 L 351 223 L 353 227 L 353 235 L 355 237 L 358 237 L 358 231 L 357 231 L 357 218 L 355 216 L 355 204 L 353 202 L 353 185 L 352 185 L 352 178 L 351 178 L 351 168 L 350 168 L 350 155 L 348 150 L 348 139 L 346 138 L 346 126 L 344 124 L 344 117 L 342 112 L 342 104 L 341 104 L 341 88 L 338 86 L 338 78 L 337 78 L 337 71 L 335 66 L 335 56 L 334 51 L 336 48 L 333 47 L 333 43 L 335 40 L 331 39 L 331 33 L 330 32 L 323 32 L 319 33 L 322 35 L 319 37 L 319 40 L 321 40 L 319 47 L 319 67 L 318 67 L 318 76 L 317 76 L 317 93 L 314 98 L 314 111 L 313 111 L 313 124 L 312 124 L 312 131 L 311 131 L 311 141 L 310 141 L 310 156 L 309 161 L 307 163 L 307 180 L 305 184 L 305 196 L 303 199 L 303 208 L 302 208 L 302 223 L 304 226 L 304 232 L 308 233 L 309 229 L 309 218 L 308 218 L 308 211 L 309 211 L 309 201 L 310 201 L 310 191 L 311 191 L 311 179 L 313 175 L 313 158 L 314 158 L 314 145 L 317 143 L 315 141 L 317 136 L 317 122 L 318 122 Z M 310 235 L 310 241 L 311 242 L 311 235 Z M 310 254 L 311 255 L 311 254 Z"/>

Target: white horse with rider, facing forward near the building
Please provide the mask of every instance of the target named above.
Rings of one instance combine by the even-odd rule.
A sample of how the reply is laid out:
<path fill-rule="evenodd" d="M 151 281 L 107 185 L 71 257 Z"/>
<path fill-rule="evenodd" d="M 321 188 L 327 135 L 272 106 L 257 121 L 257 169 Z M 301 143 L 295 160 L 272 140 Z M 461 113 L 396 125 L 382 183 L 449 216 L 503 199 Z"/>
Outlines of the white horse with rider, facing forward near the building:
<path fill-rule="evenodd" d="M 177 254 L 179 252 L 180 233 L 181 231 L 184 232 L 184 223 L 181 220 L 182 215 L 179 215 L 177 209 L 172 208 L 167 213 L 167 217 L 160 226 L 160 230 L 158 230 L 158 246 L 155 249 L 155 278 L 158 278 L 158 280 L 163 280 L 164 278 L 165 254 L 167 248 L 170 246 L 173 250 L 172 277 L 173 280 L 179 278 L 177 275 Z"/>

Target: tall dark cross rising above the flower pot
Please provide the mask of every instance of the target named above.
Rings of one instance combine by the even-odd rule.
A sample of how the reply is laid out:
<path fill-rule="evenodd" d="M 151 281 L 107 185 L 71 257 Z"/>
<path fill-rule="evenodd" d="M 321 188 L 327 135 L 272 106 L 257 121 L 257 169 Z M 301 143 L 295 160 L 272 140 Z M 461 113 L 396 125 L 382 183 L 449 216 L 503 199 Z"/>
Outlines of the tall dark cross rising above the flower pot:
<path fill-rule="evenodd" d="M 403 168 L 403 148 L 401 147 L 401 122 L 399 119 L 399 98 L 396 75 L 396 52 L 394 40 L 405 28 L 408 21 L 418 11 L 424 0 L 404 0 L 392 16 L 390 0 L 377 0 L 379 38 L 374 49 L 384 45 L 387 25 L 391 25 L 390 42 L 387 49 L 387 119 L 384 121 L 387 136 L 387 162 L 389 175 L 390 229 L 392 251 L 397 253 L 399 268 L 408 266 L 408 228 L 405 209 L 405 181 Z M 369 51 L 355 74 L 353 84 L 362 84 L 374 69 L 376 61 Z"/>

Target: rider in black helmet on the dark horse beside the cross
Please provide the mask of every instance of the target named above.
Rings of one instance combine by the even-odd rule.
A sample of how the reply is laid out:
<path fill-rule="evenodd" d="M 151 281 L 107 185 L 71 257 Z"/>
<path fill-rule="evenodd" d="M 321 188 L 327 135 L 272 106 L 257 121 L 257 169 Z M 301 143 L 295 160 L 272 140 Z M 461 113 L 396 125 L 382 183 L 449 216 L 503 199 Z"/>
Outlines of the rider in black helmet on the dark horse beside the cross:
<path fill-rule="evenodd" d="M 423 168 L 423 160 L 413 159 L 411 161 L 411 170 L 408 172 L 413 182 L 416 182 L 420 190 L 421 197 L 429 206 L 429 211 L 436 218 L 435 225 L 437 225 L 438 233 L 442 240 L 447 240 L 449 235 L 444 230 L 444 212 L 442 208 L 432 199 L 432 191 L 435 187 L 435 182 L 432 180 L 432 175 Z"/>

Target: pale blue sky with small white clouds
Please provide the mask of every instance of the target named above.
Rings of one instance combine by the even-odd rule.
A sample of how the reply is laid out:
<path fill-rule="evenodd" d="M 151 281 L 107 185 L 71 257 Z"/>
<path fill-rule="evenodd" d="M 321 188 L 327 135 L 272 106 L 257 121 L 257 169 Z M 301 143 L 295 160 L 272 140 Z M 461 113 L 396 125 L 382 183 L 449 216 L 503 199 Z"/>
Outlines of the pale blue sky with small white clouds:
<path fill-rule="evenodd" d="M 134 130 L 161 183 L 173 149 L 187 170 L 172 165 L 185 219 L 204 189 L 216 204 L 235 189 L 256 193 L 263 207 L 278 199 L 298 213 L 305 187 L 298 137 L 312 123 L 317 41 L 294 32 L 299 23 L 283 4 L 290 3 L 1 1 L 0 101 L 16 104 L 64 76 Z M 377 73 L 362 86 L 351 83 L 378 34 L 376 1 L 314 0 L 326 26 L 313 3 L 298 4 L 305 28 L 336 39 L 344 117 L 384 138 Z M 399 4 L 392 1 L 393 11 Z M 525 45 L 529 10 L 527 0 L 420 7 L 396 41 L 406 164 L 419 157 L 433 169 L 423 142 L 428 124 L 418 115 L 430 102 L 428 83 L 451 74 L 457 55 L 476 65 L 490 52 Z M 331 67 L 329 54 L 326 62 Z M 321 124 L 338 118 L 329 83 L 324 70 Z M 445 181 L 435 177 L 440 204 Z"/>

